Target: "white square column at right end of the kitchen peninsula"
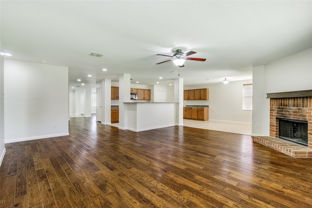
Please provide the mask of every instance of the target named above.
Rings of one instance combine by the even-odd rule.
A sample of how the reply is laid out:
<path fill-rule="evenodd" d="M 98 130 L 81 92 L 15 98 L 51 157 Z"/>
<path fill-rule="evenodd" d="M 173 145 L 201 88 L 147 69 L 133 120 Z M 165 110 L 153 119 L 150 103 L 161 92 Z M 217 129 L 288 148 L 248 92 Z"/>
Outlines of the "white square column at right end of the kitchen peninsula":
<path fill-rule="evenodd" d="M 175 79 L 175 102 L 178 102 L 176 121 L 183 126 L 183 78 Z"/>

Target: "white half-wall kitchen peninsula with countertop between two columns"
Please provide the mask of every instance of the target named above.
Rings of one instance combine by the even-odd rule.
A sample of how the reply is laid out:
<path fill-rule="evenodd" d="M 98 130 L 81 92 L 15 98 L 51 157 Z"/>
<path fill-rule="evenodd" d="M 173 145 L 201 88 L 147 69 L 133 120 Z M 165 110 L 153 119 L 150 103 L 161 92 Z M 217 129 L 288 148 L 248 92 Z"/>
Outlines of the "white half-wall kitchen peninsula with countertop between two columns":
<path fill-rule="evenodd" d="M 134 132 L 179 125 L 178 102 L 124 102 L 124 114 L 125 129 Z"/>

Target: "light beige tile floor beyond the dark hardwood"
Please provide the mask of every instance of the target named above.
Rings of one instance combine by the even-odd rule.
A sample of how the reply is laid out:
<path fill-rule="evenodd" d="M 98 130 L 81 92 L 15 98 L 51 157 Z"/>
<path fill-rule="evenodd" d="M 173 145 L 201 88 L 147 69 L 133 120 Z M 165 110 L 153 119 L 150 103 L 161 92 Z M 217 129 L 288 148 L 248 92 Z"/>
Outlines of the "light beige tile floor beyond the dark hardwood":
<path fill-rule="evenodd" d="M 118 127 L 118 123 L 111 124 L 111 126 Z M 251 135 L 252 125 L 251 124 L 237 124 L 229 122 L 218 122 L 218 121 L 196 121 L 183 119 L 183 126 L 193 127 L 198 129 L 208 129 L 219 132 L 230 132 Z"/>

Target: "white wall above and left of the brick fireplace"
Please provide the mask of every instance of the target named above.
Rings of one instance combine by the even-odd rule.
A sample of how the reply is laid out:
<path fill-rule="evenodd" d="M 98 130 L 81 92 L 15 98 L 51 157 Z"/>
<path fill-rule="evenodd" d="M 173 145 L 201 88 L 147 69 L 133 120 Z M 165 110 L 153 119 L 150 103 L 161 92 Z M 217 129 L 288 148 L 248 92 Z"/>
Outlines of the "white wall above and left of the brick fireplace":
<path fill-rule="evenodd" d="M 252 135 L 269 136 L 270 100 L 266 98 L 266 94 L 311 90 L 312 48 L 254 67 L 253 81 L 253 97 L 256 102 L 253 102 Z M 260 124 L 259 128 L 254 128 L 255 124 Z"/>

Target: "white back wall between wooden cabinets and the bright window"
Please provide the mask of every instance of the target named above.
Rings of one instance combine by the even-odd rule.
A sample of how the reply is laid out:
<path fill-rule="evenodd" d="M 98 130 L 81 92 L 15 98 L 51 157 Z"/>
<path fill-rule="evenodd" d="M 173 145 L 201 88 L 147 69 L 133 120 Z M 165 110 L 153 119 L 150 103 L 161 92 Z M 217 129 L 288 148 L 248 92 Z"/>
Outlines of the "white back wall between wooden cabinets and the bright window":
<path fill-rule="evenodd" d="M 252 111 L 243 111 L 243 84 L 253 80 L 230 81 L 228 84 L 185 86 L 184 90 L 209 89 L 209 100 L 184 100 L 185 105 L 209 105 L 209 120 L 252 123 Z"/>

